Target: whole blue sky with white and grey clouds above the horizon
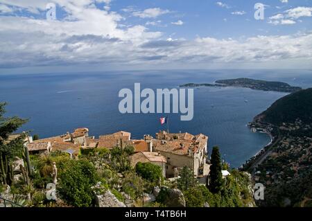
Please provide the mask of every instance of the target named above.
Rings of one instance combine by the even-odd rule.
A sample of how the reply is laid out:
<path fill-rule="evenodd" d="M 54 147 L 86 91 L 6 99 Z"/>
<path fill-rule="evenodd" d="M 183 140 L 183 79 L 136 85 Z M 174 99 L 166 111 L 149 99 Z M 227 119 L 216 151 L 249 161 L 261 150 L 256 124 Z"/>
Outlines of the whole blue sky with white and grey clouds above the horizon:
<path fill-rule="evenodd" d="M 0 74 L 311 68 L 312 0 L 0 0 Z"/>

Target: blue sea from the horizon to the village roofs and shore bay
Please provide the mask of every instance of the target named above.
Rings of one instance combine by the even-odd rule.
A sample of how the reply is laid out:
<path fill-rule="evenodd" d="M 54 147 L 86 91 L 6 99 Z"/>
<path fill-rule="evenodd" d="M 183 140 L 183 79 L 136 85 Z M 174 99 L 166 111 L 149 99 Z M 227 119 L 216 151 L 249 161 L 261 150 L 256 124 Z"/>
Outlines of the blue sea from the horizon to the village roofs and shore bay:
<path fill-rule="evenodd" d="M 120 89 L 173 88 L 188 82 L 205 83 L 218 79 L 249 77 L 278 80 L 294 86 L 312 87 L 312 71 L 115 71 L 103 73 L 53 73 L 0 75 L 0 101 L 9 103 L 8 115 L 30 118 L 21 130 L 32 130 L 41 138 L 88 127 L 98 136 L 126 130 L 132 138 L 155 135 L 159 117 L 168 114 L 120 114 Z M 194 89 L 194 118 L 180 121 L 180 114 L 169 114 L 171 132 L 207 134 L 209 151 L 218 145 L 222 157 L 239 167 L 270 142 L 267 134 L 252 133 L 246 124 L 257 114 L 285 96 L 272 91 L 243 88 Z M 248 100 L 248 103 L 245 102 Z"/>

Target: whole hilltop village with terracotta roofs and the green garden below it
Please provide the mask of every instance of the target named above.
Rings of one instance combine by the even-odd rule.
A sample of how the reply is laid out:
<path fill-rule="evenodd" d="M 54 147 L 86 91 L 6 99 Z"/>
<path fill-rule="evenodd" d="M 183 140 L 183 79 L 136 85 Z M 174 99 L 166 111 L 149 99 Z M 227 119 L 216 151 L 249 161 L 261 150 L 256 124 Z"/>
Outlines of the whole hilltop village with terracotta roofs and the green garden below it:
<path fill-rule="evenodd" d="M 95 137 L 82 127 L 40 139 L 13 133 L 26 120 L 3 122 L 0 207 L 254 206 L 250 174 L 230 170 L 218 147 L 207 159 L 205 134 Z"/>

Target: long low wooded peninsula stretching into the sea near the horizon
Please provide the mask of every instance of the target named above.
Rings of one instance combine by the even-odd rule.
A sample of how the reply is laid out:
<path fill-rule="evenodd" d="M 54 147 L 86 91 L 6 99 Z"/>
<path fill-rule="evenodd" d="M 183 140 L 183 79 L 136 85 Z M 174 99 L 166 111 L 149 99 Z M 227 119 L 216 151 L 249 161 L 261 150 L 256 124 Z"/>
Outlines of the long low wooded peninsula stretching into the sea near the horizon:
<path fill-rule="evenodd" d="M 300 91 L 301 87 L 293 87 L 285 82 L 273 82 L 266 80 L 254 80 L 251 78 L 236 78 L 227 80 L 217 80 L 214 84 L 194 84 L 188 83 L 180 85 L 180 87 L 247 87 L 254 90 L 261 91 L 279 91 L 286 93 L 293 93 Z"/>

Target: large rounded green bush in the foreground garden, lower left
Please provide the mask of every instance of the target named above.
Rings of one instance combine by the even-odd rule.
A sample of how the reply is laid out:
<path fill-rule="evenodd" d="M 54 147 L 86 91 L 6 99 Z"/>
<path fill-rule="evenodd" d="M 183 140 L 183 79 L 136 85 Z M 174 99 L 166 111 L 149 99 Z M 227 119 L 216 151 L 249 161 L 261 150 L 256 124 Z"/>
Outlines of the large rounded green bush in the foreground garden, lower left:
<path fill-rule="evenodd" d="M 97 182 L 96 169 L 86 160 L 70 161 L 60 174 L 57 192 L 67 204 L 87 207 L 94 204 L 92 186 Z"/>

